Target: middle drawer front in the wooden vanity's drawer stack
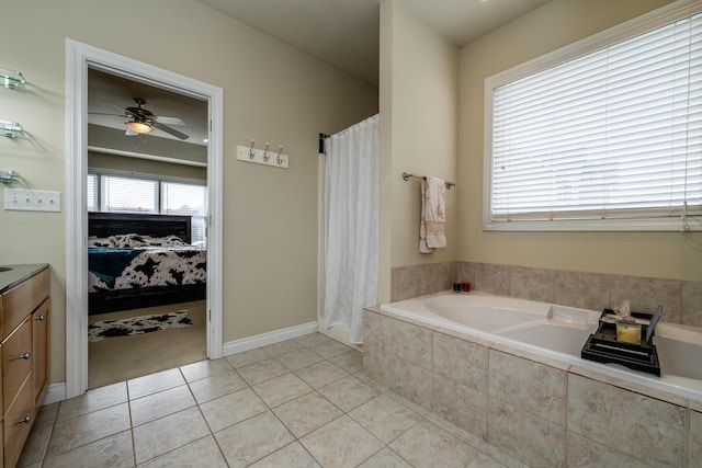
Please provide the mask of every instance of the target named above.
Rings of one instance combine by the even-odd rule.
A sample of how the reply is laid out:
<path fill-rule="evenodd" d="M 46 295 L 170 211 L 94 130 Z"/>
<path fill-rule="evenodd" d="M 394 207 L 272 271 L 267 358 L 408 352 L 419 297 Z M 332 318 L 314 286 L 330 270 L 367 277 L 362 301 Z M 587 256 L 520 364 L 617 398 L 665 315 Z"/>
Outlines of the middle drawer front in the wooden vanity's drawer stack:
<path fill-rule="evenodd" d="M 2 408 L 5 414 L 18 390 L 32 370 L 32 317 L 30 316 L 2 343 Z"/>

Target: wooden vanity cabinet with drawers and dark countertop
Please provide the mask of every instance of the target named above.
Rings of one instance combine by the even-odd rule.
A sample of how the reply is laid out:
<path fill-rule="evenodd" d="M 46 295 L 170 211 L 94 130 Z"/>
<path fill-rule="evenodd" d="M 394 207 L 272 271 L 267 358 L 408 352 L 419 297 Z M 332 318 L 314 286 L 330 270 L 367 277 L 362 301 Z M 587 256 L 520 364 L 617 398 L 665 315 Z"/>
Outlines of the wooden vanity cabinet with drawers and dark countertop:
<path fill-rule="evenodd" d="M 48 387 L 48 265 L 1 267 L 0 294 L 0 468 L 14 468 Z"/>

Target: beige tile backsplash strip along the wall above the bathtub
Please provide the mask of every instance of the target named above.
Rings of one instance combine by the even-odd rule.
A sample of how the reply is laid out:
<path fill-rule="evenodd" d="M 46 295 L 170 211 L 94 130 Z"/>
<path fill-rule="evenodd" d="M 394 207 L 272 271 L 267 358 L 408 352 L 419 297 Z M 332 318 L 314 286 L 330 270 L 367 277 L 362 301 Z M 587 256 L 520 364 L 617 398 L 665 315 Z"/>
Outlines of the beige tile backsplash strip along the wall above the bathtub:
<path fill-rule="evenodd" d="M 589 310 L 618 307 L 629 299 L 633 310 L 663 306 L 663 320 L 702 327 L 702 282 L 567 272 L 474 262 L 429 263 L 393 269 L 390 301 L 451 289 L 469 282 L 473 289 Z"/>

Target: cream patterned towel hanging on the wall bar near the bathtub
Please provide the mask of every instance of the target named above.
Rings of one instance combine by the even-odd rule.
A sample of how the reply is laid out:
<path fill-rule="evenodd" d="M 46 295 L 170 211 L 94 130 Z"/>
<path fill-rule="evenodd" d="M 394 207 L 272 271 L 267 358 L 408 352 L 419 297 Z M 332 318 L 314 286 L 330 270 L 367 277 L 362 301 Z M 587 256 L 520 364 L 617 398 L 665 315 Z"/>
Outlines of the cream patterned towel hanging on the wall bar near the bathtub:
<path fill-rule="evenodd" d="M 443 179 L 427 175 L 421 181 L 421 220 L 419 251 L 431 253 L 446 247 L 446 184 Z"/>

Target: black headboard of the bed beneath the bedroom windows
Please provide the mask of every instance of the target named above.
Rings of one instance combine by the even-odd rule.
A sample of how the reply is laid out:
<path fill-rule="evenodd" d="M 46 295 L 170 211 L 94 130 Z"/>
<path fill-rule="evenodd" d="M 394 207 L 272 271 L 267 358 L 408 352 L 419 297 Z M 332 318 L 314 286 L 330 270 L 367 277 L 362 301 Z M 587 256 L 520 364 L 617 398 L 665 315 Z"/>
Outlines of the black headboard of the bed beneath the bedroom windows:
<path fill-rule="evenodd" d="M 138 233 L 166 237 L 176 235 L 191 242 L 191 220 L 188 215 L 152 215 L 141 213 L 88 213 L 88 236 Z"/>

